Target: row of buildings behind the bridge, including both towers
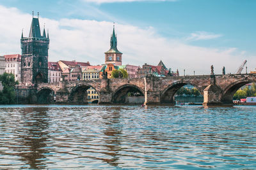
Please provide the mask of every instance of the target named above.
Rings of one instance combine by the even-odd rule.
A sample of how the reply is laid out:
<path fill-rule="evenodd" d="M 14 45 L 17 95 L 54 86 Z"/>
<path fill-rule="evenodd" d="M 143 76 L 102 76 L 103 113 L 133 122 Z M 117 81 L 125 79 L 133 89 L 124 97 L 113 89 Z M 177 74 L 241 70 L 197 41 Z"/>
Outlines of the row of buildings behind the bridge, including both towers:
<path fill-rule="evenodd" d="M 105 52 L 104 64 L 91 66 L 90 62 L 77 62 L 76 60 L 48 61 L 49 32 L 43 30 L 41 34 L 38 17 L 32 18 L 29 36 L 25 37 L 22 31 L 20 38 L 20 54 L 4 55 L 3 69 L 12 73 L 15 80 L 24 87 L 33 87 L 37 83 L 54 83 L 58 81 L 93 80 L 97 78 L 111 78 L 112 72 L 125 69 L 129 78 L 151 76 L 177 76 L 160 61 L 157 66 L 143 64 L 143 66 L 122 65 L 122 52 L 117 49 L 115 25 L 110 39 L 110 48 Z M 1 67 L 1 66 L 0 66 Z M 0 68 L 1 69 L 1 68 Z M 88 89 L 88 99 L 98 99 L 94 89 Z"/>

